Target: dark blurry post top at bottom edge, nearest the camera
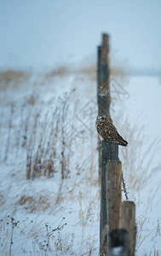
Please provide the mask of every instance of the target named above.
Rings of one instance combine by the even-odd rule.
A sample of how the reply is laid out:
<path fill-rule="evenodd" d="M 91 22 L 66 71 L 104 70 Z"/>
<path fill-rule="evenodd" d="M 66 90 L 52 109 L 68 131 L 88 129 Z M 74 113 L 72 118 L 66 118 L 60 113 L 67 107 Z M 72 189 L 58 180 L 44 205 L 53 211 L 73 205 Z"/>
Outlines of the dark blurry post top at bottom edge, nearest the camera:
<path fill-rule="evenodd" d="M 129 236 L 124 229 L 112 230 L 109 234 L 108 256 L 129 256 Z"/>

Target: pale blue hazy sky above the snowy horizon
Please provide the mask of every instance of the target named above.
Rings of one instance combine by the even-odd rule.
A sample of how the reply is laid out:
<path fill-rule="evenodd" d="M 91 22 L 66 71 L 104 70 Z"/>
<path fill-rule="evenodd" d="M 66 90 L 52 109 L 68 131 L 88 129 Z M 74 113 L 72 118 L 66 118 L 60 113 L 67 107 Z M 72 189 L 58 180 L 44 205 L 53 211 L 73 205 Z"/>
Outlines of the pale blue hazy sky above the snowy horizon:
<path fill-rule="evenodd" d="M 96 56 L 101 33 L 112 58 L 161 68 L 160 0 L 0 0 L 0 68 L 55 67 Z"/>

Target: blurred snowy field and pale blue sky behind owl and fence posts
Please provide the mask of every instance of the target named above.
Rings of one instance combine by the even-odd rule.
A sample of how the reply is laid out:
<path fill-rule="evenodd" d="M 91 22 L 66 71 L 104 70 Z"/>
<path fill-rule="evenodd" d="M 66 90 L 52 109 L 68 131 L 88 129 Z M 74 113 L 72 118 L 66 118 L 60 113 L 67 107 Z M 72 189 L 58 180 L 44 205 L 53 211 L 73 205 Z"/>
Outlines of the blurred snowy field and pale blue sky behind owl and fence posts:
<path fill-rule="evenodd" d="M 136 255 L 160 255 L 160 24 L 160 0 L 0 0 L 2 255 L 99 255 L 102 33 Z"/>

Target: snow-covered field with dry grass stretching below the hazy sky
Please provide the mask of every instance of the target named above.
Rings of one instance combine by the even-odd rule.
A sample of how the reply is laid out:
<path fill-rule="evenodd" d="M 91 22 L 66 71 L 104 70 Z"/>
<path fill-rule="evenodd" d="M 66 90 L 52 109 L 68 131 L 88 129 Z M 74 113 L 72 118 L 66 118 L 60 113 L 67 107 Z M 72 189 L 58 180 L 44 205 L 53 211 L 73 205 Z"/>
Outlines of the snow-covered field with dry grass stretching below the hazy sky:
<path fill-rule="evenodd" d="M 111 90 L 113 123 L 129 142 L 119 158 L 136 206 L 136 255 L 161 255 L 161 83 L 115 77 Z M 96 115 L 89 74 L 1 81 L 1 255 L 99 255 Z"/>

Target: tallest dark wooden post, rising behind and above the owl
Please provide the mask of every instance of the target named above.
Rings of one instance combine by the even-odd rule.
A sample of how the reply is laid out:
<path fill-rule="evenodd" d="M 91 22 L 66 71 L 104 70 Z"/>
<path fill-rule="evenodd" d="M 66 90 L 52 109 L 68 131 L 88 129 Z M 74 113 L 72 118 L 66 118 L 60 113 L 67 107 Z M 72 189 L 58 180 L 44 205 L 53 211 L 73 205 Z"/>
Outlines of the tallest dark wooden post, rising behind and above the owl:
<path fill-rule="evenodd" d="M 110 117 L 110 88 L 109 88 L 109 36 L 107 34 L 102 35 L 101 46 L 98 46 L 97 55 L 97 102 L 98 113 L 105 113 Z M 98 138 L 99 148 L 99 177 L 101 179 L 101 141 Z"/>

